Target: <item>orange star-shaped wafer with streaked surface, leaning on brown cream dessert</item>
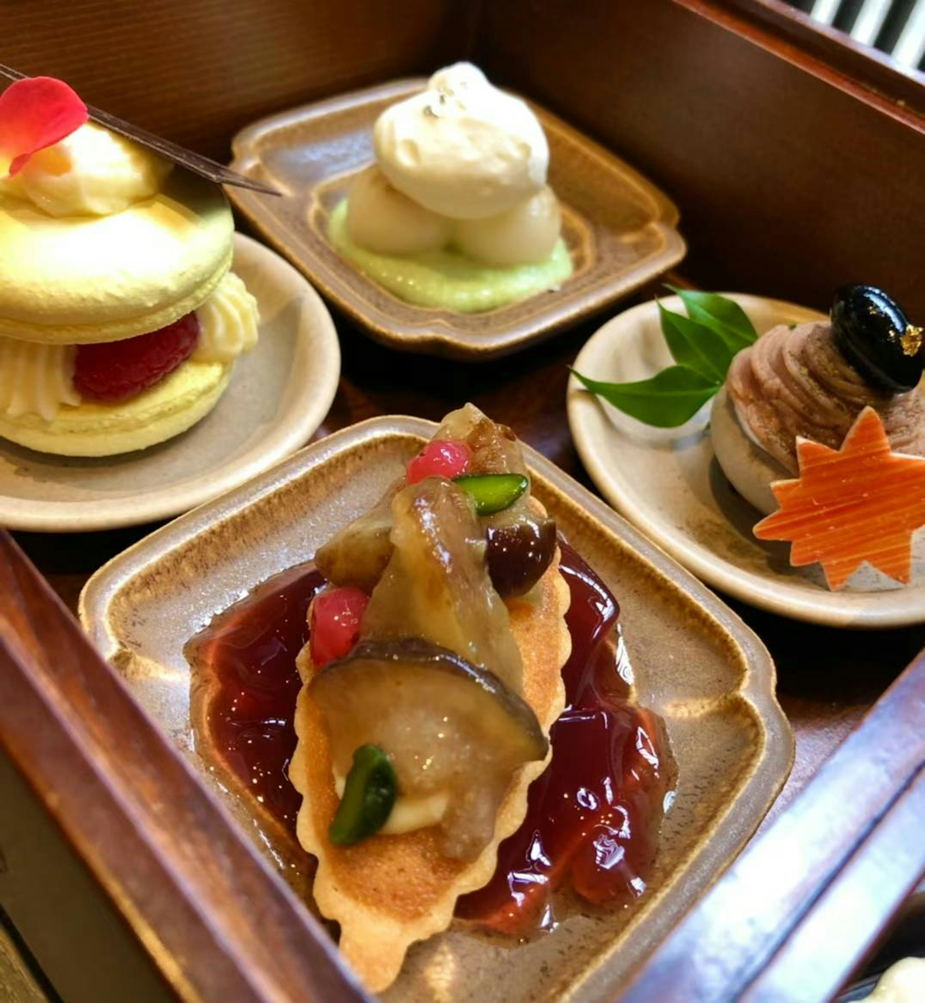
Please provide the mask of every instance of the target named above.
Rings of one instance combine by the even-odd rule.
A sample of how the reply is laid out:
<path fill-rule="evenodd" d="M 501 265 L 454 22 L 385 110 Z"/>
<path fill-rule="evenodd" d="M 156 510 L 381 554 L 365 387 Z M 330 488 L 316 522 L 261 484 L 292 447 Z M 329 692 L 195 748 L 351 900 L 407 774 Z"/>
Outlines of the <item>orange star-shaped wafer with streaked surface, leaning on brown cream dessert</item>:
<path fill-rule="evenodd" d="M 880 415 L 865 407 L 841 448 L 797 440 L 800 477 L 772 484 L 780 509 L 753 531 L 788 540 L 795 568 L 819 562 L 840 589 L 868 561 L 904 585 L 912 534 L 925 526 L 925 458 L 893 452 Z"/>

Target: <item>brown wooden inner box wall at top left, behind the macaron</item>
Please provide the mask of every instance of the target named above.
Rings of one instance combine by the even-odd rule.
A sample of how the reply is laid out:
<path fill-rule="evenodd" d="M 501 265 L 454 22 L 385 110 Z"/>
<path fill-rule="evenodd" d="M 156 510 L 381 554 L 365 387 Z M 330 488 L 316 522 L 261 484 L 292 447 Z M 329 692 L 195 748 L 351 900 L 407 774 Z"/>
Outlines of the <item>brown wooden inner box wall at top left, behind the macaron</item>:
<path fill-rule="evenodd" d="M 256 118 L 466 52 L 467 0 L 0 0 L 0 62 L 223 162 Z"/>

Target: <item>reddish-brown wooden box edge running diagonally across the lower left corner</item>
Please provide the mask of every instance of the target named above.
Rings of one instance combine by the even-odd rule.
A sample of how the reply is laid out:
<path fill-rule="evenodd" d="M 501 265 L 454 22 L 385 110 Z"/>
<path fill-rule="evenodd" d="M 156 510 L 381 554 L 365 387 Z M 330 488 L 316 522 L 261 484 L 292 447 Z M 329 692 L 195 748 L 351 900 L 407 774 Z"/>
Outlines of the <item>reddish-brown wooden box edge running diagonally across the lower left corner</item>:
<path fill-rule="evenodd" d="M 2 532 L 0 752 L 181 1000 L 368 999 Z"/>

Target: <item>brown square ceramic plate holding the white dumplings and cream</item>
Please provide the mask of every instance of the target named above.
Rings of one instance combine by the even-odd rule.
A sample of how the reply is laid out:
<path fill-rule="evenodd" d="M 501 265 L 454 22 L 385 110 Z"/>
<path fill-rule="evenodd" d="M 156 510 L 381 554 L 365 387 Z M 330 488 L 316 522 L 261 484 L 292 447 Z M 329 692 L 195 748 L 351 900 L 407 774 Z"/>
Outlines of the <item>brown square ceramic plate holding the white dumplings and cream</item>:
<path fill-rule="evenodd" d="M 599 310 L 684 256 L 677 210 L 618 157 L 531 105 L 549 140 L 549 184 L 563 206 L 574 274 L 560 289 L 496 310 L 463 314 L 413 306 L 343 259 L 328 240 L 331 211 L 373 160 L 373 123 L 422 89 L 398 80 L 294 108 L 236 136 L 232 166 L 273 185 L 276 199 L 228 197 L 271 244 L 380 341 L 406 351 L 488 359 L 514 352 Z"/>

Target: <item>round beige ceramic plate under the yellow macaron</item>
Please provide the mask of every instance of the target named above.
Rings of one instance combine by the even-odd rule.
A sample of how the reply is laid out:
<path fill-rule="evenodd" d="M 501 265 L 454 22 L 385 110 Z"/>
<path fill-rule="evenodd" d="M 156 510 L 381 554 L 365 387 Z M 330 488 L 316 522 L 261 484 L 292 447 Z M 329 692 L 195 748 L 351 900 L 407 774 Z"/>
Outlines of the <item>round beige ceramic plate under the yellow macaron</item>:
<path fill-rule="evenodd" d="M 321 297 L 278 254 L 235 235 L 235 271 L 261 332 L 198 424 L 139 452 L 78 459 L 0 439 L 0 525 L 48 533 L 166 519 L 237 487 L 308 441 L 337 391 L 341 352 Z"/>

